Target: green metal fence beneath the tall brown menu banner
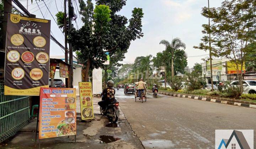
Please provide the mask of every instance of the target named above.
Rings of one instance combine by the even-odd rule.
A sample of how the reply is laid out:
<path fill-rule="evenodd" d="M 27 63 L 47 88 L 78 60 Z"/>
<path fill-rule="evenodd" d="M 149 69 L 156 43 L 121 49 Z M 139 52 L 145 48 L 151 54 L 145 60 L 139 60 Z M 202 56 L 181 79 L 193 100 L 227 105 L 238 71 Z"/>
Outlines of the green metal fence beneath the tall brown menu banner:
<path fill-rule="evenodd" d="M 5 96 L 2 83 L 0 92 L 0 142 L 3 142 L 30 122 L 30 106 L 28 96 Z"/>

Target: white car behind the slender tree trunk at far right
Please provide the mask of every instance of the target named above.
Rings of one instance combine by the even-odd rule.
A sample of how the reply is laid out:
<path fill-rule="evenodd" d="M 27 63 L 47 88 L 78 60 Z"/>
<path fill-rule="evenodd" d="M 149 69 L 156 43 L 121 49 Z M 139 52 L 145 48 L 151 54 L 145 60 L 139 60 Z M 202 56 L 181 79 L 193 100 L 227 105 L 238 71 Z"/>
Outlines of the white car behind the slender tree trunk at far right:
<path fill-rule="evenodd" d="M 233 81 L 230 85 L 238 86 L 239 81 Z M 244 86 L 244 94 L 256 94 L 256 81 L 254 80 L 244 80 L 242 81 Z"/>

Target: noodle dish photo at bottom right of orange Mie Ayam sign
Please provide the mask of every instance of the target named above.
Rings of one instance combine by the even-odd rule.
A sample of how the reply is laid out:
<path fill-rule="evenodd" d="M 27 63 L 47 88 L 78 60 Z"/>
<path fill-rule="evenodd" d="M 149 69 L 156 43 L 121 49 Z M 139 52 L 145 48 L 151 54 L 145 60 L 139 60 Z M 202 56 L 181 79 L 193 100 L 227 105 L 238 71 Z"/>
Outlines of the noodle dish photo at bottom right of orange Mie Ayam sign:
<path fill-rule="evenodd" d="M 65 120 L 62 120 L 57 125 L 58 131 L 56 132 L 57 136 L 71 136 L 76 134 L 76 123 L 65 123 Z"/>

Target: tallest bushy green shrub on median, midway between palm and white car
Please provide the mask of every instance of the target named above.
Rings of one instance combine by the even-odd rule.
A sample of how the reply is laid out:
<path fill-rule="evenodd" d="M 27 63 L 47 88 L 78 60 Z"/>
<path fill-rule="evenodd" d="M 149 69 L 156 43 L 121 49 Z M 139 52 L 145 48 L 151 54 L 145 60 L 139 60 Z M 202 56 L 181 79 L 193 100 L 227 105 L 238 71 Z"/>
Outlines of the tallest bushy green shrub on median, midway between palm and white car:
<path fill-rule="evenodd" d="M 186 84 L 188 91 L 202 89 L 206 85 L 205 79 L 196 72 L 187 73 L 187 80 L 190 82 Z"/>

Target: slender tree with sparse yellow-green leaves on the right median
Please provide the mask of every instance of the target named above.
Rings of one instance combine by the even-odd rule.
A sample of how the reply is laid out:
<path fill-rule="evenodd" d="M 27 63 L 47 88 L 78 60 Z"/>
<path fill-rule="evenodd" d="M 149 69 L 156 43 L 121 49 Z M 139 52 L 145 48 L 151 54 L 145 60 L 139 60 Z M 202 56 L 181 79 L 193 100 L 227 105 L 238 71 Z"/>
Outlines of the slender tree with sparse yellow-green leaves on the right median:
<path fill-rule="evenodd" d="M 246 47 L 256 39 L 255 1 L 225 0 L 217 9 L 210 9 L 210 12 L 207 7 L 203 7 L 202 15 L 212 19 L 210 29 L 204 27 L 204 32 L 213 35 L 211 40 L 215 48 L 212 49 L 212 53 L 228 58 L 235 64 L 239 82 L 242 84 L 242 67 L 247 52 Z M 239 66 L 241 66 L 240 70 Z M 240 92 L 243 92 L 242 85 L 240 85 Z"/>

